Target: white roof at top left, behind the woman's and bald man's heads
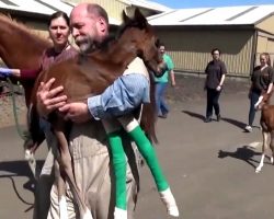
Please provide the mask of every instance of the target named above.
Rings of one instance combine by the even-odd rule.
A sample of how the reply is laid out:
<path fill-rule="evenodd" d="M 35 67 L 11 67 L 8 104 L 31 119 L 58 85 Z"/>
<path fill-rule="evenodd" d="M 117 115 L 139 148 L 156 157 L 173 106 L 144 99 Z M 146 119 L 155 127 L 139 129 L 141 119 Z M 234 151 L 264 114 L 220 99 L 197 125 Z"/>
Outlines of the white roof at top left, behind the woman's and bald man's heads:
<path fill-rule="evenodd" d="M 50 15 L 59 10 L 69 15 L 75 5 L 61 0 L 0 0 L 0 9 L 42 15 Z M 110 24 L 118 25 L 119 23 L 116 19 L 110 18 Z"/>

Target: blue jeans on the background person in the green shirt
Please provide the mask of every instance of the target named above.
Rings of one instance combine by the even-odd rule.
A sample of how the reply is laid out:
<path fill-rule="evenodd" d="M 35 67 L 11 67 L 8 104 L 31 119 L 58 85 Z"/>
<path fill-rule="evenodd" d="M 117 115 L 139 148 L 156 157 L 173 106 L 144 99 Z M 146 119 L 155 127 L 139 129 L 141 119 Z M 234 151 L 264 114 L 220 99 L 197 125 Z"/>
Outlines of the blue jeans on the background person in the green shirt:
<path fill-rule="evenodd" d="M 168 82 L 156 83 L 156 107 L 157 107 L 158 116 L 167 115 L 170 111 L 164 100 L 167 88 L 168 88 Z"/>

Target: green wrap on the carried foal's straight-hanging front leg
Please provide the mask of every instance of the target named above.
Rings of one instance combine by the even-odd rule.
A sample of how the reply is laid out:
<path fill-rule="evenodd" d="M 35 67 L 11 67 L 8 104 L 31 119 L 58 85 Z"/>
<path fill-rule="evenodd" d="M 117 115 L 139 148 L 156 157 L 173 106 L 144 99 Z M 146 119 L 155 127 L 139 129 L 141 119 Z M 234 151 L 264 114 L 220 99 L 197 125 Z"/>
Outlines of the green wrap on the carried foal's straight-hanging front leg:
<path fill-rule="evenodd" d="M 124 152 L 121 131 L 107 135 L 115 176 L 116 207 L 126 210 L 126 155 Z"/>

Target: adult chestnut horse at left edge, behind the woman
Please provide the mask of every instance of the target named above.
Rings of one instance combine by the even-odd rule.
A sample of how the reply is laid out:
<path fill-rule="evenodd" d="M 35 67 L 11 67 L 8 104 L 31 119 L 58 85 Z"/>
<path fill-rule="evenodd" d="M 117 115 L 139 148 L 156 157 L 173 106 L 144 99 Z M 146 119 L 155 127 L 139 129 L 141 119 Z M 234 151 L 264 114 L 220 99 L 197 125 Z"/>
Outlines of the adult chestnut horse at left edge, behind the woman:
<path fill-rule="evenodd" d="M 50 42 L 45 37 L 35 34 L 10 16 L 0 14 L 0 57 L 9 68 L 39 69 L 42 55 L 50 46 Z M 33 84 L 34 81 L 22 81 L 20 79 L 19 81 L 25 88 L 25 102 L 28 107 L 32 93 L 32 85 L 28 83 Z M 39 142 L 43 140 L 44 137 L 42 136 Z M 24 146 L 25 159 L 35 175 L 33 151 L 37 146 L 33 146 L 30 141 L 26 141 Z"/>

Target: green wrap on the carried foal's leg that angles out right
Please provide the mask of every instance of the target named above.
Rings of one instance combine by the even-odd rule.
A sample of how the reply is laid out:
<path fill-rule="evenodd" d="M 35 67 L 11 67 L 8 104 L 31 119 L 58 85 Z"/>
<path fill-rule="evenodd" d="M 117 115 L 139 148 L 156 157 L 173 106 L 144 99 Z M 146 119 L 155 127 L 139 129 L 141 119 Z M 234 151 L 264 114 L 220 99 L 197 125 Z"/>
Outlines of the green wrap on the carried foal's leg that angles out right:
<path fill-rule="evenodd" d="M 158 191 L 165 191 L 169 187 L 169 184 L 160 168 L 155 148 L 152 147 L 145 132 L 141 130 L 140 126 L 137 126 L 135 129 L 128 132 L 128 135 L 135 141 L 142 158 L 146 160 L 148 168 L 153 175 Z"/>

